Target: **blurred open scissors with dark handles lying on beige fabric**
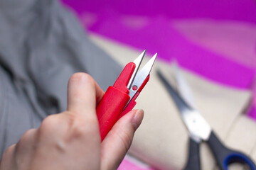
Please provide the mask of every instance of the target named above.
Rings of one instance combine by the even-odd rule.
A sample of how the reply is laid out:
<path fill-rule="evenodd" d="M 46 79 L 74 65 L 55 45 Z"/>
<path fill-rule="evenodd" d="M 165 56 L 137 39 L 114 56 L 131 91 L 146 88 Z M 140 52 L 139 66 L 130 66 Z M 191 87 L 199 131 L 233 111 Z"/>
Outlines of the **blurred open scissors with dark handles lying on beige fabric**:
<path fill-rule="evenodd" d="M 176 107 L 189 132 L 189 154 L 184 170 L 201 169 L 199 145 L 203 141 L 207 142 L 210 146 L 213 156 L 221 170 L 228 170 L 228 166 L 233 163 L 246 164 L 251 170 L 255 170 L 255 163 L 250 157 L 247 157 L 242 152 L 225 147 L 225 145 L 220 142 L 215 132 L 210 128 L 210 125 L 203 116 L 196 111 L 188 84 L 186 84 L 181 72 L 178 71 L 177 65 L 175 68 L 177 91 L 169 84 L 169 81 L 167 81 L 159 70 L 157 74 L 166 87 L 166 90 L 173 98 L 174 103 L 176 103 Z"/>

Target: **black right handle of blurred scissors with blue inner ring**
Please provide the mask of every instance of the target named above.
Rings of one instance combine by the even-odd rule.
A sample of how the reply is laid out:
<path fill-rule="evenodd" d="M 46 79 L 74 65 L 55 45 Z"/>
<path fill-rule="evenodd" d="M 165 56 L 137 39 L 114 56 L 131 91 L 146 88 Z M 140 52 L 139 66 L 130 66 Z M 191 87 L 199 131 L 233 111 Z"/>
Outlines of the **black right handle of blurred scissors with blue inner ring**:
<path fill-rule="evenodd" d="M 256 170 L 255 163 L 252 162 L 250 157 L 247 157 L 242 152 L 237 152 L 232 149 L 225 147 L 214 132 L 210 133 L 210 138 L 208 140 L 210 149 L 218 163 L 221 170 L 228 170 L 228 165 L 232 163 L 247 164 L 251 170 Z"/>

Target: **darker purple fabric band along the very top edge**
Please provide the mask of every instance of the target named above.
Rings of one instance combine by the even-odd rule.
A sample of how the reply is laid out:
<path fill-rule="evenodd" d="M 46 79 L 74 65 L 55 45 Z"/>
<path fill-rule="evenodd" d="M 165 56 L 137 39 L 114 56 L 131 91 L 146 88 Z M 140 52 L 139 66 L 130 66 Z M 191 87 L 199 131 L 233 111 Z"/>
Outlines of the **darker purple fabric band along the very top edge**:
<path fill-rule="evenodd" d="M 255 0 L 62 0 L 82 14 L 114 11 L 119 15 L 166 16 L 167 18 L 212 18 L 256 23 Z"/>

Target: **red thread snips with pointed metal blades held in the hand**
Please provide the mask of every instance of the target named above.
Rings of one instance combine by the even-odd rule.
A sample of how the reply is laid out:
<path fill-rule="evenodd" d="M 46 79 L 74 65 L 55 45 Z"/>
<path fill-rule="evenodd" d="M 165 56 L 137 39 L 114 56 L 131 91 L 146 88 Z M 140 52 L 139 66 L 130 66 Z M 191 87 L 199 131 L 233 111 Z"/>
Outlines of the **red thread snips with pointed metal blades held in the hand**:
<path fill-rule="evenodd" d="M 102 100 L 98 103 L 96 113 L 100 125 L 101 140 L 104 140 L 119 118 L 134 108 L 137 96 L 149 81 L 151 68 L 157 54 L 151 57 L 149 62 L 139 70 L 145 52 L 146 50 L 134 62 L 129 62 L 124 67 L 114 85 L 109 86 Z"/>

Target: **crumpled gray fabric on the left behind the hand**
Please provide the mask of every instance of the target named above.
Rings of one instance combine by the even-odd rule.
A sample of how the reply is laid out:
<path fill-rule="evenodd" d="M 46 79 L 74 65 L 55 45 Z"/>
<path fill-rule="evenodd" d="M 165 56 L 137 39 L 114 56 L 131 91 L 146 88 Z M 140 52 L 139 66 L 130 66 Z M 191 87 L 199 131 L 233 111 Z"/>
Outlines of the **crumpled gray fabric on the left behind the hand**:
<path fill-rule="evenodd" d="M 122 68 L 55 0 L 0 1 L 0 154 L 47 115 L 65 111 L 68 79 L 87 72 L 102 89 Z"/>

